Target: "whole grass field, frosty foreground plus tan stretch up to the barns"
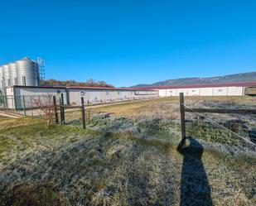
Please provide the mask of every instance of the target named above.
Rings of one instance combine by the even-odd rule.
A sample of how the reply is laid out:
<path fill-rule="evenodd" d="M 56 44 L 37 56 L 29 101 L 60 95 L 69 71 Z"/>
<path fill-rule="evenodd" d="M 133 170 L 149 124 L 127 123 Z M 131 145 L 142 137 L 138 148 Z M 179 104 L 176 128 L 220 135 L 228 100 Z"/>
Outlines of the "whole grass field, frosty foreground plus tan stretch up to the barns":
<path fill-rule="evenodd" d="M 255 100 L 193 97 L 186 104 L 255 108 Z M 187 127 L 194 138 L 181 148 L 178 98 L 86 112 L 86 130 L 77 122 L 46 129 L 39 119 L 0 116 L 0 205 L 256 204 L 255 152 L 240 152 L 221 128 L 205 131 L 194 122 Z M 80 111 L 66 113 L 67 119 L 78 117 Z M 253 117 L 239 118 L 254 131 Z"/>

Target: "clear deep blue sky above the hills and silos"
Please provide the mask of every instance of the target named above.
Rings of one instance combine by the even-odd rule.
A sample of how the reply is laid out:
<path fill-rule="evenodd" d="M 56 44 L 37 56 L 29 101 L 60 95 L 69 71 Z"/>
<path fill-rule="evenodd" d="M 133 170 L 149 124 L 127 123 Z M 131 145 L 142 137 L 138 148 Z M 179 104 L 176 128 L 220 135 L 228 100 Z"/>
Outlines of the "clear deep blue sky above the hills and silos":
<path fill-rule="evenodd" d="M 255 0 L 0 2 L 0 65 L 115 86 L 256 71 Z"/>

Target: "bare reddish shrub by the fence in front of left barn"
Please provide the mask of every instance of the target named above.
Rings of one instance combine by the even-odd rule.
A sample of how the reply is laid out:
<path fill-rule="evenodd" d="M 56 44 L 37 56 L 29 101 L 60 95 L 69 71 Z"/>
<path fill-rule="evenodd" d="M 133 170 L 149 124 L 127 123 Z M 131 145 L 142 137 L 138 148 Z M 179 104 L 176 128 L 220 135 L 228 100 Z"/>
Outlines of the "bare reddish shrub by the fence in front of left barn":
<path fill-rule="evenodd" d="M 39 98 L 34 99 L 36 108 L 43 113 L 42 117 L 46 121 L 46 128 L 51 127 L 55 117 L 55 105 L 53 103 L 53 95 L 50 93 L 41 95 Z"/>

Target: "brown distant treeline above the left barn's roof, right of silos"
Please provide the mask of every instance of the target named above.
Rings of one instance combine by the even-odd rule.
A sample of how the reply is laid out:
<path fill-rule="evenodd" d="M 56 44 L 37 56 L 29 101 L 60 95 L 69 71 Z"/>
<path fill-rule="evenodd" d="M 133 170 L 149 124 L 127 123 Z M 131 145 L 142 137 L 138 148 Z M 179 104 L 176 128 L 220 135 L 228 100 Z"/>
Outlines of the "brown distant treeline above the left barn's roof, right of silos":
<path fill-rule="evenodd" d="M 94 79 L 88 79 L 85 82 L 77 82 L 75 80 L 60 81 L 56 79 L 47 79 L 41 81 L 41 86 L 78 86 L 78 87 L 109 87 L 114 88 L 114 85 L 107 84 L 104 81 L 94 81 Z"/>

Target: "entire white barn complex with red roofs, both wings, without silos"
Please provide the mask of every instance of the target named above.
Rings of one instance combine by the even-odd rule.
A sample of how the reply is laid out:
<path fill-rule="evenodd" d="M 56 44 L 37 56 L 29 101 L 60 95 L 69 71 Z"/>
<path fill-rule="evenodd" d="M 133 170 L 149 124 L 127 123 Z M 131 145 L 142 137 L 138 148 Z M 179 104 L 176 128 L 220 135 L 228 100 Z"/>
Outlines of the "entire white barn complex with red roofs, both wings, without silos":
<path fill-rule="evenodd" d="M 184 93 L 185 96 L 242 96 L 256 95 L 256 82 L 226 84 L 193 84 L 148 88 L 100 88 L 100 87 L 38 87 L 13 86 L 7 88 L 7 108 L 21 109 L 24 98 L 29 108 L 36 98 L 51 94 L 63 96 L 65 105 L 80 105 L 81 97 L 85 104 L 112 103 L 144 98 L 172 97 Z M 14 98 L 15 97 L 15 98 Z M 59 99 L 59 98 L 58 98 Z"/>

